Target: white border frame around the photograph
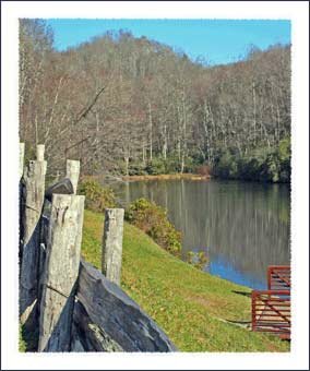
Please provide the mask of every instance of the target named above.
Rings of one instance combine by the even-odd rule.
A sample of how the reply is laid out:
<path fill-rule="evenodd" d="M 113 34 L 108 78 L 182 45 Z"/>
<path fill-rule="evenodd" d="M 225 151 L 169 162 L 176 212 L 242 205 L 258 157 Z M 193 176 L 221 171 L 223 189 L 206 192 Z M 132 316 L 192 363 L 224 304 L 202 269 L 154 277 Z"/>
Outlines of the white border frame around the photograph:
<path fill-rule="evenodd" d="M 309 17 L 308 1 L 2 2 L 1 339 L 11 370 L 301 370 L 309 367 Z M 17 19 L 285 19 L 293 31 L 293 342 L 288 354 L 20 354 L 17 351 Z M 13 267 L 13 268 L 12 268 Z"/>

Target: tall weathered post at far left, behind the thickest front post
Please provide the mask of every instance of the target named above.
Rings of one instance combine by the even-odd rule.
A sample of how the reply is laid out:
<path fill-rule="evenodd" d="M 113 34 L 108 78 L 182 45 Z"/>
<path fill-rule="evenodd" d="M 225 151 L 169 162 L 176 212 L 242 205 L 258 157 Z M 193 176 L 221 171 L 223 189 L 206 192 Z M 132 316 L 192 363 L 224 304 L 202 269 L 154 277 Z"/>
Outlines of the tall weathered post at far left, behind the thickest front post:
<path fill-rule="evenodd" d="M 41 157 L 40 157 L 41 158 Z M 20 315 L 22 324 L 36 322 L 40 215 L 45 192 L 45 160 L 31 160 L 24 169 L 23 241 L 20 275 Z M 33 315 L 31 315 L 33 314 Z M 32 319 L 31 319 L 32 318 Z"/>

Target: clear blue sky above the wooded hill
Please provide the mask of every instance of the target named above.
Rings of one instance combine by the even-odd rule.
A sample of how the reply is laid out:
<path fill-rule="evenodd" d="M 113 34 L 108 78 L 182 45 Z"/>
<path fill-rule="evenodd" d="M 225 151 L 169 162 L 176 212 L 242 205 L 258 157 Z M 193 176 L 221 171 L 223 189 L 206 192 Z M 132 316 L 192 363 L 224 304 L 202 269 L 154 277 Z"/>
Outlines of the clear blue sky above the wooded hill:
<path fill-rule="evenodd" d="M 65 50 L 106 31 L 127 29 L 184 51 L 191 59 L 203 56 L 210 64 L 237 61 L 250 45 L 265 49 L 290 43 L 290 22 L 285 20 L 47 20 L 55 47 Z"/>

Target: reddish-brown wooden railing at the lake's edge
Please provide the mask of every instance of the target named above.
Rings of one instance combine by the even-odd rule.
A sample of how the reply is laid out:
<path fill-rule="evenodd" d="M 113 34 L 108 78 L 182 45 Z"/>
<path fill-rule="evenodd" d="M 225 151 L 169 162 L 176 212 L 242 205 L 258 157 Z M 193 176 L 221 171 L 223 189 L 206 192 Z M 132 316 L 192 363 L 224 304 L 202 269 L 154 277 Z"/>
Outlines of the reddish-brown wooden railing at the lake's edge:
<path fill-rule="evenodd" d="M 290 339 L 290 267 L 270 266 L 267 287 L 252 291 L 252 331 Z"/>

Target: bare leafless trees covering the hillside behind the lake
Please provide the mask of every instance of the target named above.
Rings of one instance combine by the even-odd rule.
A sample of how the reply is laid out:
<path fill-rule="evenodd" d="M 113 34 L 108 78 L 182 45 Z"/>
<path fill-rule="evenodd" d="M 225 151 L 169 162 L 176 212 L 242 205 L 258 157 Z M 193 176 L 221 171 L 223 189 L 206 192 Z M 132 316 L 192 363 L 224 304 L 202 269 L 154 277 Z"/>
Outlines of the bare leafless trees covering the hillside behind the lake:
<path fill-rule="evenodd" d="M 21 20 L 20 134 L 27 147 L 46 145 L 53 173 L 74 157 L 83 173 L 207 165 L 220 177 L 288 181 L 290 47 L 208 67 L 120 31 L 59 52 L 44 21 Z"/>

